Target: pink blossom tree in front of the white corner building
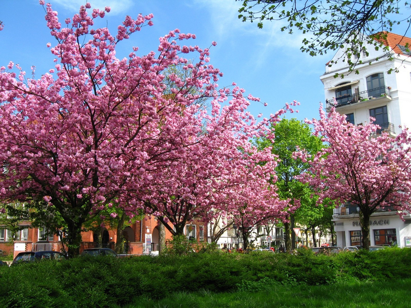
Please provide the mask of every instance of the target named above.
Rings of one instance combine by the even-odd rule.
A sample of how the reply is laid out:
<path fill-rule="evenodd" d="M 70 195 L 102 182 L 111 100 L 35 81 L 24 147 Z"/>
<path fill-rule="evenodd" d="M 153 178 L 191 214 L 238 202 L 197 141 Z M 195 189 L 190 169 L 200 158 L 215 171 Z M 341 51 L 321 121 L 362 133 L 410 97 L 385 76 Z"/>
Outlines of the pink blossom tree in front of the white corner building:
<path fill-rule="evenodd" d="M 359 208 L 363 248 L 369 247 L 369 219 L 379 209 L 410 211 L 411 204 L 411 136 L 403 128 L 395 138 L 378 134 L 380 127 L 370 122 L 355 126 L 346 122 L 332 108 L 326 115 L 320 107 L 320 119 L 307 121 L 314 125 L 328 147 L 314 155 L 302 181 L 311 184 L 319 194 L 338 205 L 351 202 Z M 307 159 L 301 149 L 297 156 Z"/>

